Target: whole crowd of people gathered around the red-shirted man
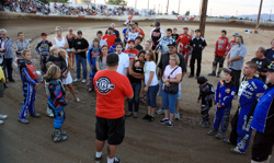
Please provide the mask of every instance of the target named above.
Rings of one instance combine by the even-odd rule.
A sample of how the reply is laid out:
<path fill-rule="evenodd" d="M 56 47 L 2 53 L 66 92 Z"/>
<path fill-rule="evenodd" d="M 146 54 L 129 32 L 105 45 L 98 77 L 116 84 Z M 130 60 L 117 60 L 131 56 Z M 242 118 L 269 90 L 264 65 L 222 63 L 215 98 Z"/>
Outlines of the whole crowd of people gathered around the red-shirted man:
<path fill-rule="evenodd" d="M 30 116 L 41 116 L 35 112 L 34 101 L 36 89 L 39 83 L 44 83 L 47 96 L 46 115 L 54 117 L 53 141 L 66 140 L 67 133 L 61 130 L 66 118 L 64 107 L 68 105 L 66 85 L 75 101 L 80 102 L 72 83 L 87 83 L 89 92 L 96 92 L 95 161 L 102 159 L 102 150 L 107 140 L 107 163 L 118 163 L 121 160 L 115 158 L 115 151 L 124 139 L 125 118 L 139 117 L 139 102 L 146 103 L 148 107 L 147 114 L 142 115 L 144 120 L 152 123 L 157 115 L 163 114 L 159 123 L 167 124 L 169 128 L 174 127 L 175 120 L 181 117 L 181 84 L 190 66 L 189 78 L 195 77 L 199 85 L 199 126 L 212 126 L 213 129 L 207 133 L 224 139 L 229 126 L 232 101 L 239 100 L 238 109 L 231 120 L 230 136 L 224 141 L 235 145 L 231 152 L 246 153 L 252 130 L 255 129 L 252 162 L 270 162 L 274 143 L 274 39 L 271 40 L 270 49 L 258 47 L 255 57 L 244 62 L 247 48 L 243 37 L 235 33 L 233 40 L 230 42 L 227 31 L 222 30 L 215 46 L 213 72 L 208 74 L 209 78 L 222 77 L 214 90 L 215 85 L 201 75 L 203 50 L 207 44 L 199 30 L 189 34 L 189 27 L 185 26 L 183 34 L 178 34 L 176 28 L 163 30 L 160 22 L 156 22 L 149 34 L 150 39 L 145 40 L 145 47 L 141 46 L 145 33 L 137 22 L 132 25 L 128 23 L 122 33 L 112 23 L 105 32 L 98 31 L 96 37 L 90 44 L 83 37 L 82 31 L 75 34 L 73 28 L 69 27 L 66 36 L 62 36 L 60 26 L 55 31 L 56 36 L 52 42 L 47 40 L 46 33 L 42 33 L 42 40 L 35 47 L 41 56 L 41 81 L 31 61 L 32 47 L 24 39 L 24 34 L 19 32 L 19 40 L 13 44 L 7 31 L 0 31 L 0 96 L 3 96 L 7 83 L 14 82 L 14 51 L 24 95 L 18 119 L 20 123 L 30 123 L 26 119 L 27 109 Z M 228 68 L 224 68 L 225 60 Z M 73 80 L 70 71 L 75 69 L 77 77 Z M 161 96 L 159 109 L 157 96 Z M 128 102 L 126 108 L 125 100 Z M 214 104 L 217 109 L 212 125 L 208 112 Z M 7 117 L 0 115 L 1 119 Z"/>

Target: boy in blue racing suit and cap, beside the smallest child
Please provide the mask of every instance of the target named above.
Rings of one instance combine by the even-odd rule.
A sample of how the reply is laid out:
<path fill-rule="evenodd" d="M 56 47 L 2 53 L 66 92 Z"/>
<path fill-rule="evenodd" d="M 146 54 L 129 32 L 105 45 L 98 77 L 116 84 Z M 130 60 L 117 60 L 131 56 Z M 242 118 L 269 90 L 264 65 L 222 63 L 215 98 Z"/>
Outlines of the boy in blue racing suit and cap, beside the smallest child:
<path fill-rule="evenodd" d="M 216 115 L 214 119 L 213 129 L 207 133 L 209 136 L 215 136 L 221 139 L 227 131 L 229 124 L 229 115 L 232 106 L 232 100 L 236 94 L 236 86 L 232 80 L 232 71 L 230 69 L 222 69 L 224 80 L 218 82 L 215 95 L 215 104 L 217 105 Z M 219 125 L 221 123 L 221 128 L 219 130 Z"/>

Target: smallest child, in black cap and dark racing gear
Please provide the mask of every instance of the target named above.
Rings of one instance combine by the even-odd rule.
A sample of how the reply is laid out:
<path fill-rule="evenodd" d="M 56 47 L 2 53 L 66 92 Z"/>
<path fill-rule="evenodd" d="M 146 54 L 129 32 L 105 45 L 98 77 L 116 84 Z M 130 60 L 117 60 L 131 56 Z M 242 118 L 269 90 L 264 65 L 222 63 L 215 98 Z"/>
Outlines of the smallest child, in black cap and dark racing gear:
<path fill-rule="evenodd" d="M 210 123 L 208 112 L 213 106 L 215 91 L 213 85 L 207 83 L 207 79 L 205 77 L 199 77 L 197 79 L 197 83 L 199 84 L 199 96 L 197 103 L 202 100 L 201 114 L 203 116 L 203 121 L 199 123 L 199 125 L 202 127 L 209 127 Z"/>

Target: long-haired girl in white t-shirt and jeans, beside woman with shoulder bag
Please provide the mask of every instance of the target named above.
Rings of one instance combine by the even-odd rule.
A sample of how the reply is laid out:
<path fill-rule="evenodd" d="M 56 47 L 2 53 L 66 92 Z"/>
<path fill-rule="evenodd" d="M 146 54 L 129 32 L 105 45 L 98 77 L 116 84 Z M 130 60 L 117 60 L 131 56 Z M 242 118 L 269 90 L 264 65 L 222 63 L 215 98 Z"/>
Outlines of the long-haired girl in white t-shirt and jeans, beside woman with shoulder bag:
<path fill-rule="evenodd" d="M 145 58 L 145 92 L 148 103 L 148 114 L 142 119 L 147 119 L 148 123 L 150 123 L 155 120 L 155 112 L 157 107 L 156 96 L 159 90 L 159 82 L 156 75 L 155 53 L 152 50 L 147 50 Z"/>

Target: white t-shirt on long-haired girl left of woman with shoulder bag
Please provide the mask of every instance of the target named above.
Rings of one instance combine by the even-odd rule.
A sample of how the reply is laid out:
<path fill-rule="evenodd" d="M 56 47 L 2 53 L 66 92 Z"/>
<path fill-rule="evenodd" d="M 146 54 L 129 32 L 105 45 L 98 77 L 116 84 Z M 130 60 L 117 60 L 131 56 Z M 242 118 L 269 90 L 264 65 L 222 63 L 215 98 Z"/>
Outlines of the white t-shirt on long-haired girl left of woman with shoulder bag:
<path fill-rule="evenodd" d="M 146 85 L 148 83 L 150 71 L 153 71 L 155 75 L 153 75 L 152 81 L 150 82 L 149 86 L 155 86 L 155 85 L 157 85 L 159 83 L 158 80 L 157 80 L 157 75 L 156 75 L 156 63 L 153 61 L 146 61 L 145 66 L 144 66 L 145 84 Z"/>

